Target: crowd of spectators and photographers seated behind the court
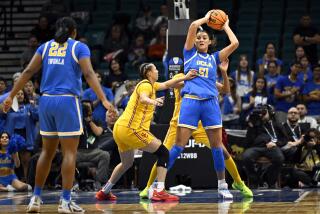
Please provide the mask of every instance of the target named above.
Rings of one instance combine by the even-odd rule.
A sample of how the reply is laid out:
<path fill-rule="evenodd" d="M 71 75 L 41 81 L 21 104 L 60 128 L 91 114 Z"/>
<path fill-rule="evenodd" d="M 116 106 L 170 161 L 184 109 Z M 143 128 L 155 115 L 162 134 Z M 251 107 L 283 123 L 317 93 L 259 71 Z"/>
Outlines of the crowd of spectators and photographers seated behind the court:
<path fill-rule="evenodd" d="M 52 23 L 56 18 L 70 14 L 70 7 L 62 5 L 63 0 L 51 0 L 44 5 L 39 23 L 31 30 L 28 46 L 22 53 L 22 68 L 31 60 L 39 45 L 53 38 Z M 98 60 L 92 59 L 106 97 L 114 103 L 119 113 L 125 109 L 138 77 L 138 71 L 133 76 L 127 74 L 125 65 L 137 68 L 145 61 L 162 60 L 167 49 L 167 22 L 168 9 L 165 4 L 160 6 L 157 17 L 153 16 L 148 5 L 144 5 L 141 15 L 132 21 L 134 24 L 130 30 L 128 23 L 121 19 L 113 21 L 100 49 L 103 55 Z M 81 32 L 78 37 L 93 47 Z M 238 60 L 238 66 L 229 71 L 231 92 L 220 97 L 224 127 L 247 129 L 243 163 L 251 187 L 261 183 L 257 180 L 261 176 L 256 176 L 256 161 L 260 157 L 267 157 L 271 163 L 263 174 L 266 177 L 261 178 L 267 181 L 269 187 L 274 187 L 283 163 L 292 166 L 287 173 L 286 185 L 316 185 L 313 177 L 320 164 L 320 64 L 317 57 L 320 34 L 312 25 L 310 16 L 303 16 L 301 23 L 297 23 L 292 42 L 296 45 L 296 51 L 288 71 L 283 70 L 284 62 L 271 41 L 266 44 L 265 53 L 258 56 L 254 66 L 249 64 L 246 53 L 239 59 L 232 58 Z M 99 67 L 101 61 L 108 66 Z M 13 76 L 12 84 L 19 74 L 17 71 Z M 10 90 L 10 84 L 11 81 L 0 78 L 0 95 Z M 78 176 L 82 181 L 91 179 L 92 188 L 99 189 L 119 161 L 112 139 L 112 127 L 117 118 L 108 115 L 92 89 L 87 88 L 85 83 L 83 85 L 84 134 L 77 157 Z M 0 129 L 25 139 L 25 146 L 19 151 L 21 166 L 16 169 L 16 174 L 21 181 L 31 185 L 34 184 L 35 165 L 41 148 L 39 96 L 38 76 L 18 93 L 18 111 L 0 114 Z M 267 111 L 259 114 L 263 122 L 250 124 L 255 110 L 266 105 L 271 106 L 272 110 L 268 107 Z M 47 182 L 49 188 L 61 185 L 57 175 L 60 162 L 61 152 L 58 149 Z"/>

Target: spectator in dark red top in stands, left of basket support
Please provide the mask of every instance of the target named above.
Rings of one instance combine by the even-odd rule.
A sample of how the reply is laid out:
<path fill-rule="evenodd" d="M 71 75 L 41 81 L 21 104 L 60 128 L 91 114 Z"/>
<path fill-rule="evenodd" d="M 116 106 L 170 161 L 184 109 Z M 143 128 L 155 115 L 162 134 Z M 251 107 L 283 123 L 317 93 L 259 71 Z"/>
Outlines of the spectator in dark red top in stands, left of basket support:
<path fill-rule="evenodd" d="M 160 25 L 156 36 L 150 41 L 147 56 L 151 60 L 161 61 L 166 51 L 167 25 Z"/>

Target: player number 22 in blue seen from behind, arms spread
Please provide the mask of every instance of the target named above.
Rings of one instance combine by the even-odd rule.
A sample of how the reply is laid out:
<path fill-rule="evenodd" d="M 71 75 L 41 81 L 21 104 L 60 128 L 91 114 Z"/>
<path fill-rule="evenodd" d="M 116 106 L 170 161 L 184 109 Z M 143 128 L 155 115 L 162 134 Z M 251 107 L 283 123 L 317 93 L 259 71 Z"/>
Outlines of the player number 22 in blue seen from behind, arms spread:
<path fill-rule="evenodd" d="M 53 40 L 41 45 L 30 64 L 23 71 L 9 97 L 4 101 L 8 111 L 12 99 L 25 83 L 42 67 L 39 101 L 40 134 L 42 151 L 37 163 L 33 196 L 27 212 L 40 212 L 41 191 L 51 168 L 59 142 L 63 153 L 61 167 L 62 195 L 59 213 L 83 213 L 84 210 L 71 201 L 71 188 L 75 173 L 75 160 L 79 136 L 82 134 L 82 119 L 79 105 L 81 72 L 95 91 L 103 106 L 114 111 L 107 101 L 90 61 L 87 45 L 74 40 L 77 35 L 76 23 L 70 17 L 56 22 Z"/>

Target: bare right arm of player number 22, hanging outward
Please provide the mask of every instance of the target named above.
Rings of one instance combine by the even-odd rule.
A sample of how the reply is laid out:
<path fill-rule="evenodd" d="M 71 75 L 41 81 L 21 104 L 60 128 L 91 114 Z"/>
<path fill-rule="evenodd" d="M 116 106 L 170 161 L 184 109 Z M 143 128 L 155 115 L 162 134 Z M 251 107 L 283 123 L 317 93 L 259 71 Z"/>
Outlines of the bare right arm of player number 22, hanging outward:
<path fill-rule="evenodd" d="M 86 58 L 80 59 L 79 64 L 80 64 L 81 71 L 83 73 L 84 78 L 88 82 L 89 86 L 96 93 L 99 100 L 101 100 L 103 106 L 108 110 L 114 111 L 113 105 L 107 100 L 105 94 L 102 91 L 101 85 L 92 68 L 90 58 L 86 57 Z"/>

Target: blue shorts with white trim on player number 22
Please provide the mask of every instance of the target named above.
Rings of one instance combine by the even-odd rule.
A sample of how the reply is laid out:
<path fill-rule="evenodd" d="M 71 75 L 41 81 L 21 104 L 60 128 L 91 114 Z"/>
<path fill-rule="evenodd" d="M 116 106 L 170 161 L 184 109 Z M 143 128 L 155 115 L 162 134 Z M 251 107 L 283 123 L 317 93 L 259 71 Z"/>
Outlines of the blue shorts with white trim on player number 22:
<path fill-rule="evenodd" d="M 83 132 L 78 97 L 44 94 L 39 100 L 40 134 L 45 137 L 75 137 Z"/>

